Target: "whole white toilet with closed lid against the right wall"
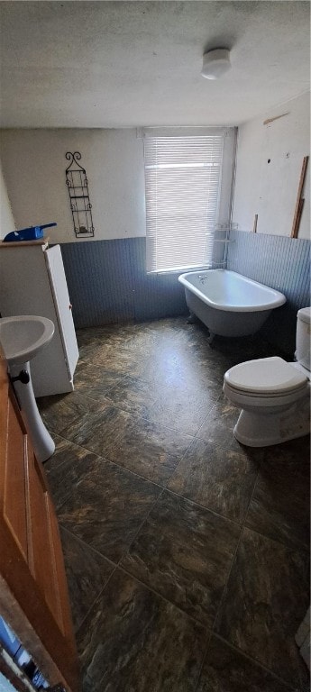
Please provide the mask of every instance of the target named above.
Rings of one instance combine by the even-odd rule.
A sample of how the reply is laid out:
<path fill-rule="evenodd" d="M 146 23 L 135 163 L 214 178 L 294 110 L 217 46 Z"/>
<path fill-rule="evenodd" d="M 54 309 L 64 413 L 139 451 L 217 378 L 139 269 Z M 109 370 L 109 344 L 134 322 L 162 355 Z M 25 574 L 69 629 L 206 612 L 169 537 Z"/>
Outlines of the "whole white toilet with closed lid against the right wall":
<path fill-rule="evenodd" d="M 268 447 L 310 432 L 310 314 L 297 313 L 296 362 L 249 360 L 224 374 L 224 395 L 241 408 L 233 434 L 249 447 Z"/>

